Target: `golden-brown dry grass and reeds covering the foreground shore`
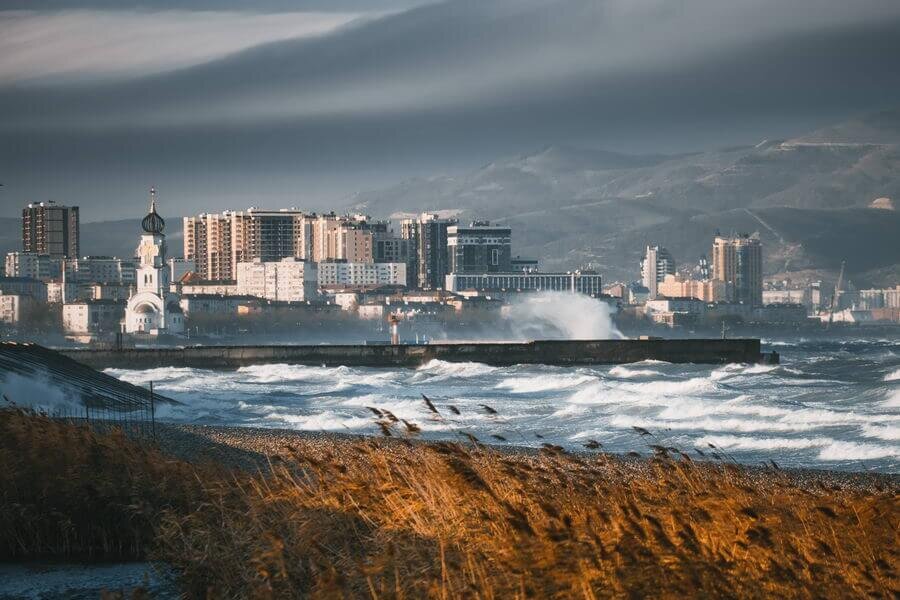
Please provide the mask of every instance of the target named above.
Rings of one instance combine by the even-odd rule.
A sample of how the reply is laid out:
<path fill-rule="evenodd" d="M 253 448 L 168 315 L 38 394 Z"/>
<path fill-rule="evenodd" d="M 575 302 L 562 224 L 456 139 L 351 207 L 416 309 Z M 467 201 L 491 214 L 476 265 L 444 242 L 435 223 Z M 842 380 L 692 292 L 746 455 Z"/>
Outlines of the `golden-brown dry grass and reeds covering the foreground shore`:
<path fill-rule="evenodd" d="M 119 546 L 129 547 L 152 535 L 152 556 L 181 573 L 192 598 L 900 594 L 897 490 L 806 486 L 774 469 L 699 464 L 663 452 L 623 461 L 382 439 L 303 440 L 273 457 L 264 475 L 224 475 L 194 472 L 121 436 L 74 433 L 21 414 L 2 420 L 4 506 L 7 483 L 29 477 L 42 480 L 27 488 L 43 490 L 38 502 L 73 486 L 82 501 L 92 497 L 86 484 L 46 473 L 51 462 L 41 446 L 10 462 L 8 421 L 55 440 L 45 451 L 115 445 L 119 451 L 104 455 L 114 468 L 97 471 L 93 451 L 79 451 L 68 473 L 111 477 L 103 489 L 114 497 L 121 488 L 121 515 L 141 500 L 147 507 L 136 514 L 153 518 L 138 521 L 137 533 L 97 521 L 106 537 L 82 539 L 124 535 Z M 18 440 L 29 442 L 27 434 Z M 94 468 L 86 468 L 88 460 Z M 144 493 L 152 497 L 145 501 Z M 17 498 L 32 500 L 21 492 Z M 78 503 L 60 510 L 78 511 Z M 8 516 L 4 508 L 4 536 L 12 527 L 23 537 L 40 531 L 59 539 L 49 526 L 16 529 Z M 27 539 L 20 545 L 42 547 Z"/>

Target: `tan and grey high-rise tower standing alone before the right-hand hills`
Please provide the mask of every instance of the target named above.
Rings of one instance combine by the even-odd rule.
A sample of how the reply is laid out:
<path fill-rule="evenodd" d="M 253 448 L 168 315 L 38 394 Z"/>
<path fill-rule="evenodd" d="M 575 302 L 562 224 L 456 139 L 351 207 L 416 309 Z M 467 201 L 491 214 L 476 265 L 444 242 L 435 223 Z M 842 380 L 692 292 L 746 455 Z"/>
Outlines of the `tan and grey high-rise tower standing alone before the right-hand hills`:
<path fill-rule="evenodd" d="M 716 236 L 713 241 L 713 279 L 729 284 L 731 301 L 762 304 L 762 244 L 742 235 Z"/>

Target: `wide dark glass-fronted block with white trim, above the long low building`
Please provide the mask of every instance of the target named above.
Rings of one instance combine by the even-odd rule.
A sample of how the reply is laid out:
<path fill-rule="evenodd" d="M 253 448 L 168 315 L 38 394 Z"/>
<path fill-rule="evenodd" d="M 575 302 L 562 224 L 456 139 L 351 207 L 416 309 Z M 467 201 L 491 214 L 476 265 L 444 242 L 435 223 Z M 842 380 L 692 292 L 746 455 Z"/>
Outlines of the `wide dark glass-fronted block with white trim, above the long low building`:
<path fill-rule="evenodd" d="M 447 228 L 450 273 L 508 273 L 512 271 L 512 230 L 474 221 Z"/>

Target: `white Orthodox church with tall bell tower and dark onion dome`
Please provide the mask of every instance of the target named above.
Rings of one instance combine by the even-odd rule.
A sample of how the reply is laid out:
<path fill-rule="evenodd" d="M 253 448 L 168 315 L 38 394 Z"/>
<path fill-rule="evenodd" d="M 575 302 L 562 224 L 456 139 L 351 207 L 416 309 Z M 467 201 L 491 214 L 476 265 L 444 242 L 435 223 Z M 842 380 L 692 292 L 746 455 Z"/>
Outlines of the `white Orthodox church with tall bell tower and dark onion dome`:
<path fill-rule="evenodd" d="M 141 221 L 140 266 L 137 285 L 125 309 L 125 333 L 170 335 L 184 333 L 179 296 L 169 289 L 166 264 L 166 222 L 156 213 L 156 189 L 150 189 L 150 212 Z"/>

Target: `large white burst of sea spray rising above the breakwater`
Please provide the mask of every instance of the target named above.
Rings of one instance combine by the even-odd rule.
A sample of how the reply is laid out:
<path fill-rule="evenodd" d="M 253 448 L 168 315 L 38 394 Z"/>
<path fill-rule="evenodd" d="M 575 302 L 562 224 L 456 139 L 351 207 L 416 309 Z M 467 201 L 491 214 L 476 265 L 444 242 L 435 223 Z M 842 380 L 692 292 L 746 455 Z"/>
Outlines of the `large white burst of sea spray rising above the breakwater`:
<path fill-rule="evenodd" d="M 609 304 L 583 294 L 539 292 L 510 304 L 506 315 L 520 339 L 624 339 Z"/>

